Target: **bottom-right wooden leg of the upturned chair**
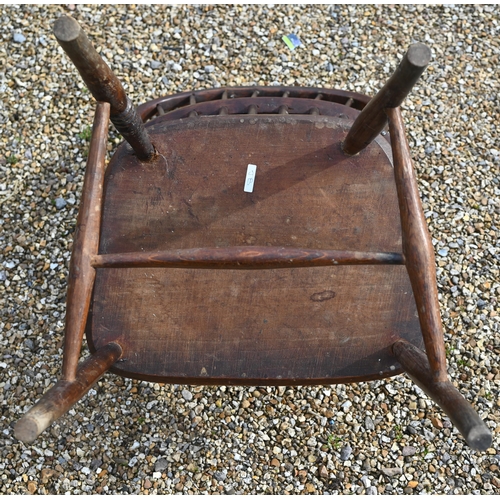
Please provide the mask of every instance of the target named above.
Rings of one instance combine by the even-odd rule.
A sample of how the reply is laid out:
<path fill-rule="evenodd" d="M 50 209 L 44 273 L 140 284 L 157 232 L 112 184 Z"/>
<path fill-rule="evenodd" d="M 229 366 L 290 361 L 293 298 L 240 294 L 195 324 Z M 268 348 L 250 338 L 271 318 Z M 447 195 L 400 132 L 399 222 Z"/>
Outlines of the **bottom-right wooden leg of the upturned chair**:
<path fill-rule="evenodd" d="M 490 430 L 449 380 L 433 378 L 425 353 L 405 340 L 395 342 L 392 350 L 411 379 L 450 417 L 467 444 L 474 450 L 488 449 Z"/>

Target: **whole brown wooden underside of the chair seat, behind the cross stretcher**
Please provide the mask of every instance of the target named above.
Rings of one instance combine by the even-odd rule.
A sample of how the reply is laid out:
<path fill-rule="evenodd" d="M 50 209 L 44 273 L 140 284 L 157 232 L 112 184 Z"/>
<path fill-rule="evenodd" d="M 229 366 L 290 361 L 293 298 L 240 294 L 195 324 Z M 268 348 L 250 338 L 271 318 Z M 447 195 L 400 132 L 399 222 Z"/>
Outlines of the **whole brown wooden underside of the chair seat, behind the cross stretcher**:
<path fill-rule="evenodd" d="M 120 147 L 107 169 L 100 254 L 401 252 L 390 148 L 377 140 L 346 157 L 352 119 L 165 116 L 149 129 L 155 162 L 140 164 Z M 245 193 L 249 163 L 257 174 Z M 400 337 L 422 345 L 401 265 L 98 269 L 88 328 L 92 348 L 123 347 L 113 371 L 185 383 L 381 378 L 400 371 L 391 352 Z"/>

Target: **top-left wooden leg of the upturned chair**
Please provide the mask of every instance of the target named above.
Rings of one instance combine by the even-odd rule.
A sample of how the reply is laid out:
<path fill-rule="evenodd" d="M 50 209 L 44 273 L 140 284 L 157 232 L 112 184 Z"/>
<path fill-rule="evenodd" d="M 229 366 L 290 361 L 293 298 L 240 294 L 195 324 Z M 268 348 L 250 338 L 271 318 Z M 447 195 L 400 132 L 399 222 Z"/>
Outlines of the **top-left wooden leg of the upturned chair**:
<path fill-rule="evenodd" d="M 111 105 L 111 121 L 137 157 L 144 161 L 154 158 L 155 148 L 134 105 L 80 25 L 70 16 L 61 16 L 54 23 L 54 35 L 96 100 Z"/>

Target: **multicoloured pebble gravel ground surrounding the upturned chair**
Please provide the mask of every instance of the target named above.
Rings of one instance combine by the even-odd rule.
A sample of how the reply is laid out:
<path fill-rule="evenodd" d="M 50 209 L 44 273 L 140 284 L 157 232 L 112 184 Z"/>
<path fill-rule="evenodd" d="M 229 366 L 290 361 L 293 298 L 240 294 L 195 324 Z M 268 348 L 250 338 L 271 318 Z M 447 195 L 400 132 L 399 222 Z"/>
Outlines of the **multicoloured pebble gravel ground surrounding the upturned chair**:
<path fill-rule="evenodd" d="M 32 446 L 16 421 L 61 366 L 95 102 L 51 36 L 71 11 L 135 103 L 223 85 L 373 95 L 412 42 L 407 99 L 449 373 L 494 432 L 471 451 L 407 378 L 193 387 L 106 375 Z M 500 487 L 500 7 L 0 6 L 0 492 L 477 493 Z M 281 36 L 295 33 L 290 51 Z M 110 153 L 119 142 L 111 133 Z M 87 352 L 84 348 L 84 354 Z"/>

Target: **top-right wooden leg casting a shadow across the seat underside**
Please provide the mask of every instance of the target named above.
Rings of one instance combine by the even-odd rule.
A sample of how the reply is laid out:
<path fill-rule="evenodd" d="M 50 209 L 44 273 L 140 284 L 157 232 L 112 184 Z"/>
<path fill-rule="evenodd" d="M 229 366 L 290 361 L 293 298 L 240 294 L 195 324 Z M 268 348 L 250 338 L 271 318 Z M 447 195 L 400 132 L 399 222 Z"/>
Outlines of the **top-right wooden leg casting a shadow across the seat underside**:
<path fill-rule="evenodd" d="M 387 125 L 385 108 L 396 108 L 409 94 L 429 64 L 431 51 L 427 45 L 410 45 L 401 64 L 378 94 L 356 118 L 342 145 L 344 153 L 355 155 L 366 148 Z"/>

